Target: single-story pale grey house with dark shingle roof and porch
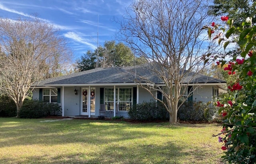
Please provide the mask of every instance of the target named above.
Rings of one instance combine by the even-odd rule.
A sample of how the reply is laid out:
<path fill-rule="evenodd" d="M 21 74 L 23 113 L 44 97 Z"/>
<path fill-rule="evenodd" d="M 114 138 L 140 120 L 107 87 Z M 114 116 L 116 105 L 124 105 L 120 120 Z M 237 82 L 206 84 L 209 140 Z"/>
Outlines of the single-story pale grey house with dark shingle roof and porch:
<path fill-rule="evenodd" d="M 128 116 L 128 110 L 134 104 L 150 101 L 154 98 L 134 81 L 134 70 L 141 73 L 145 66 L 95 68 L 57 78 L 42 80 L 33 90 L 33 99 L 45 102 L 56 102 L 62 106 L 62 116 Z M 135 72 L 136 72 L 135 71 Z M 133 73 L 131 73 L 133 72 Z M 136 74 L 136 73 L 135 73 Z M 154 84 L 164 83 L 152 71 L 144 71 L 144 76 Z M 185 98 L 194 101 L 208 102 L 218 90 L 226 84 L 209 76 L 198 74 L 189 82 L 188 88 L 200 86 L 193 94 Z M 146 82 L 141 84 L 145 84 Z M 162 96 L 156 91 L 156 96 Z M 104 106 L 106 112 L 100 113 Z M 101 109 L 102 110 L 102 109 Z"/>

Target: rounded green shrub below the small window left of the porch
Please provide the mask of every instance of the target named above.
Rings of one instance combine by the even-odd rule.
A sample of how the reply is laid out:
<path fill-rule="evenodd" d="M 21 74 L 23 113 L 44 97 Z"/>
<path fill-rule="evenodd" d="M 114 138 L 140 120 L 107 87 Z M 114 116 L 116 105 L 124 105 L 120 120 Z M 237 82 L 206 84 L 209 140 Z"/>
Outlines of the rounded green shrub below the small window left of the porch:
<path fill-rule="evenodd" d="M 28 100 L 20 109 L 20 118 L 42 118 L 50 115 L 57 115 L 60 112 L 60 105 L 38 100 Z"/>

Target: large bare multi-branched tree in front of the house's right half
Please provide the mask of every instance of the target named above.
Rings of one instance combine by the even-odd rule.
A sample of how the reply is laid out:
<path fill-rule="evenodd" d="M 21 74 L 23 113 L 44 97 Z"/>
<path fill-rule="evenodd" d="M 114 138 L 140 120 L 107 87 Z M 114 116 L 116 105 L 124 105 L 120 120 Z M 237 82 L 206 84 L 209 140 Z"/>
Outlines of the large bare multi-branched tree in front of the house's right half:
<path fill-rule="evenodd" d="M 146 58 L 150 71 L 164 82 L 160 86 L 151 77 L 136 73 L 141 87 L 164 104 L 170 122 L 177 122 L 177 112 L 184 100 L 188 84 L 197 76 L 208 50 L 204 47 L 201 28 L 209 24 L 208 4 L 205 0 L 136 0 L 120 22 L 120 33 L 134 54 Z M 206 38 L 208 39 L 208 38 Z M 184 89 L 182 88 L 184 87 Z M 195 87 L 193 88 L 195 90 Z M 155 92 L 162 92 L 164 100 Z M 192 90 L 188 91 L 188 95 Z M 178 104 L 181 100 L 181 104 Z"/>

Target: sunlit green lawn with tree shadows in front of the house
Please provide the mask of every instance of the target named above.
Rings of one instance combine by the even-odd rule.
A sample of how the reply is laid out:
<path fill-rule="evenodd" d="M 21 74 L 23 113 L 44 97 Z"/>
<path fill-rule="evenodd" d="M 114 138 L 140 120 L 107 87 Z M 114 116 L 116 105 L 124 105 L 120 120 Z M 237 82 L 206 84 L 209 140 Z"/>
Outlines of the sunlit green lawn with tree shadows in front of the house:
<path fill-rule="evenodd" d="M 217 164 L 220 124 L 0 118 L 0 163 Z"/>

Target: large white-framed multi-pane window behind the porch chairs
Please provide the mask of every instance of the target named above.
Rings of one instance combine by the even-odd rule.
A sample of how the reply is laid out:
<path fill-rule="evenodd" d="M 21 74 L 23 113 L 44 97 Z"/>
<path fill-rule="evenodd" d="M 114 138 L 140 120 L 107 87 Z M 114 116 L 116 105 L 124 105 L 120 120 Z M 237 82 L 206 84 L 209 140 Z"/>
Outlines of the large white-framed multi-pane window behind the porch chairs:
<path fill-rule="evenodd" d="M 114 109 L 114 88 L 105 88 L 106 110 Z M 116 88 L 118 111 L 128 111 L 132 107 L 132 88 Z"/>

